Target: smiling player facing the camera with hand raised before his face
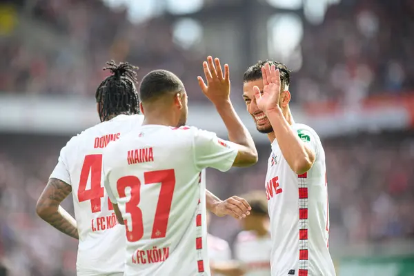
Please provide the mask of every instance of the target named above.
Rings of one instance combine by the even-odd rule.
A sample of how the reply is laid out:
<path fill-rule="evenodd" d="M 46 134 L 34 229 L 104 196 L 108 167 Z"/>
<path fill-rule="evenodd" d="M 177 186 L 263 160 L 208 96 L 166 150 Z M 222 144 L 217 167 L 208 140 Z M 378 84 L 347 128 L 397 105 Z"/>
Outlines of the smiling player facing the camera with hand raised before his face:
<path fill-rule="evenodd" d="M 334 276 L 325 152 L 315 130 L 293 121 L 289 84 L 288 68 L 277 61 L 259 61 L 244 73 L 247 110 L 272 146 L 265 184 L 271 271 L 273 276 Z"/>

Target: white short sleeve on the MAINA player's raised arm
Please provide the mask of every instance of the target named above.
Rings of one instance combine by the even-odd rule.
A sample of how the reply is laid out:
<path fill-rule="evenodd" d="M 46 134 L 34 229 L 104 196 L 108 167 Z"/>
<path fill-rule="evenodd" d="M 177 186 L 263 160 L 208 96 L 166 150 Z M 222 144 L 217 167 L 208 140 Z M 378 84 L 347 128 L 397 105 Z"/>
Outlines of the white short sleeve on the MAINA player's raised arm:
<path fill-rule="evenodd" d="M 230 170 L 237 156 L 237 145 L 219 139 L 214 132 L 195 130 L 195 165 L 197 169 L 215 168 L 221 172 Z"/>

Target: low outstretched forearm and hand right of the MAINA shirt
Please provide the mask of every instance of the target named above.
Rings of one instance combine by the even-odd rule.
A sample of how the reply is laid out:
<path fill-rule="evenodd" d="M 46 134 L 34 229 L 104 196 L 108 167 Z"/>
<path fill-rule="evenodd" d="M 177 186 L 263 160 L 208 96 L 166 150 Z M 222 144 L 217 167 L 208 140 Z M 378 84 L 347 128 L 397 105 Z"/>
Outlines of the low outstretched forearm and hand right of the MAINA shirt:
<path fill-rule="evenodd" d="M 252 208 L 245 199 L 233 195 L 226 200 L 221 200 L 209 190 L 206 190 L 206 207 L 217 217 L 231 215 L 235 219 L 242 219 L 250 215 Z"/>

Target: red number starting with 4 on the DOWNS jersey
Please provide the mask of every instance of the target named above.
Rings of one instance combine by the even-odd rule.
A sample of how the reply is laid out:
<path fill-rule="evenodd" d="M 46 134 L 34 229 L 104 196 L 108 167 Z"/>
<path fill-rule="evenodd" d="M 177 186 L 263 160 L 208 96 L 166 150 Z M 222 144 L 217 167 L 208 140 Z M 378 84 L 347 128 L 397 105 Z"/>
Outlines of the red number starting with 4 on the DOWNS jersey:
<path fill-rule="evenodd" d="M 79 202 L 90 200 L 92 213 L 101 212 L 101 198 L 104 196 L 104 189 L 101 185 L 102 155 L 86 155 L 81 170 L 79 181 L 78 200 Z M 86 190 L 86 184 L 90 176 L 90 189 Z M 108 198 L 108 209 L 114 210 Z"/>

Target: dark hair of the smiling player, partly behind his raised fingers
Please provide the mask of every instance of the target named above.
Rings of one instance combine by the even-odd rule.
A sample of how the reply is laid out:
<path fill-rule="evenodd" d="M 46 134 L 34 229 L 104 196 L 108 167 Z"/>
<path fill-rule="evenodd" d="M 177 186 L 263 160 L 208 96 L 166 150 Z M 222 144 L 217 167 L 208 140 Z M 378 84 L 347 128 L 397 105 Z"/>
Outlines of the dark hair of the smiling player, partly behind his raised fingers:
<path fill-rule="evenodd" d="M 289 86 L 290 84 L 290 70 L 284 63 L 278 61 L 257 61 L 253 66 L 247 68 L 246 72 L 243 75 L 243 81 L 256 81 L 257 79 L 262 79 L 262 67 L 269 63 L 270 66 L 276 66 L 276 69 L 279 69 L 280 72 L 280 81 L 284 87 Z"/>

